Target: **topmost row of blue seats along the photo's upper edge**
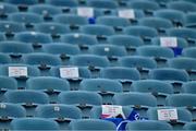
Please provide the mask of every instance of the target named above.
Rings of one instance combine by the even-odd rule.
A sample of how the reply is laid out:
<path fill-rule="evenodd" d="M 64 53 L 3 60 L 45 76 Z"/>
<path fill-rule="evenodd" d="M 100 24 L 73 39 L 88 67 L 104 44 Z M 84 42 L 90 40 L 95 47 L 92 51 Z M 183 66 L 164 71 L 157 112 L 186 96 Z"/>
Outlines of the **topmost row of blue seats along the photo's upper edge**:
<path fill-rule="evenodd" d="M 57 7 L 78 7 L 79 3 L 82 5 L 88 5 L 93 8 L 100 8 L 100 9 L 118 9 L 121 8 L 134 8 L 134 9 L 143 9 L 143 10 L 158 10 L 161 8 L 169 8 L 175 10 L 183 10 L 183 11 L 195 11 L 195 2 L 194 0 L 168 0 L 168 1 L 157 1 L 157 0 L 133 0 L 133 1 L 110 1 L 110 0 L 90 0 L 90 1 L 79 1 L 79 0 L 29 0 L 28 2 L 24 2 L 22 0 L 14 1 L 14 0 L 1 0 L 3 2 L 12 3 L 12 4 L 24 4 L 24 5 L 32 5 L 38 3 L 45 4 L 52 4 Z M 118 4 L 119 3 L 119 4 Z M 145 5 L 144 5 L 145 4 Z M 177 8 L 176 8 L 177 7 Z"/>

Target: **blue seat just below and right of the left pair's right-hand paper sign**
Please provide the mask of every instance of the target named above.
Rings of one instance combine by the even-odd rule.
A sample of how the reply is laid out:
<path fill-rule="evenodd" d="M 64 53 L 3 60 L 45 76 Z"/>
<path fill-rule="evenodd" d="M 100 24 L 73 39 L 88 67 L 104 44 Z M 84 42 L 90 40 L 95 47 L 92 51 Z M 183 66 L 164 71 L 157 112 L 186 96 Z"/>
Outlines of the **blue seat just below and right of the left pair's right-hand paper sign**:
<path fill-rule="evenodd" d="M 103 104 L 112 104 L 114 93 L 122 93 L 120 82 L 108 79 L 87 79 L 79 83 L 81 91 L 97 92 L 102 96 Z"/>

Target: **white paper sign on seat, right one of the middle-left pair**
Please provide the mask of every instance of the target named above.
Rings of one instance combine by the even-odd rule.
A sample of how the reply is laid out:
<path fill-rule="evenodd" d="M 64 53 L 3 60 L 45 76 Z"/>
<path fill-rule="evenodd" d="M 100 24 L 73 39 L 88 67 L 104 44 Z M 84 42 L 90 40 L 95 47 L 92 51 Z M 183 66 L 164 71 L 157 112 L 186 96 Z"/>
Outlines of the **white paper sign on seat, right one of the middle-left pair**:
<path fill-rule="evenodd" d="M 78 68 L 60 68 L 60 76 L 63 79 L 76 79 L 79 78 Z"/>

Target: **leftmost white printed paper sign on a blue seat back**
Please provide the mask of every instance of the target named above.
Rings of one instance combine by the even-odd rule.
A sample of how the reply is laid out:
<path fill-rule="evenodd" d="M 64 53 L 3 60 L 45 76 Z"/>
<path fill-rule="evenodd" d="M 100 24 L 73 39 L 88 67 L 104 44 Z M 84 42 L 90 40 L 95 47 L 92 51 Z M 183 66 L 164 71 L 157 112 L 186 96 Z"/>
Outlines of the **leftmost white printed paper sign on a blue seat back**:
<path fill-rule="evenodd" d="M 9 76 L 27 76 L 27 67 L 9 67 Z"/>

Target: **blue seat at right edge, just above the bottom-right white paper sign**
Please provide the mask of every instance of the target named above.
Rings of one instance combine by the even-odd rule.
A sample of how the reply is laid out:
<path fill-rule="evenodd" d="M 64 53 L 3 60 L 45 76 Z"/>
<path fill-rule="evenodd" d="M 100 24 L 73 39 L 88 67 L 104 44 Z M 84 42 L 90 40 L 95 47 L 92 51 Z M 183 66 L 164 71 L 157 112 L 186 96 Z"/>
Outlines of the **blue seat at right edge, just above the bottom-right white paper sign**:
<path fill-rule="evenodd" d="M 185 107 L 192 112 L 192 119 L 195 121 L 196 111 L 194 110 L 196 100 L 194 94 L 173 94 L 167 97 L 166 102 L 168 106 Z"/>

